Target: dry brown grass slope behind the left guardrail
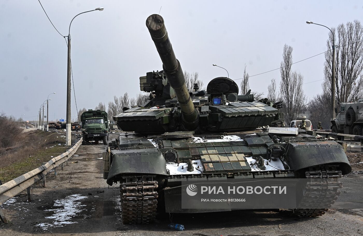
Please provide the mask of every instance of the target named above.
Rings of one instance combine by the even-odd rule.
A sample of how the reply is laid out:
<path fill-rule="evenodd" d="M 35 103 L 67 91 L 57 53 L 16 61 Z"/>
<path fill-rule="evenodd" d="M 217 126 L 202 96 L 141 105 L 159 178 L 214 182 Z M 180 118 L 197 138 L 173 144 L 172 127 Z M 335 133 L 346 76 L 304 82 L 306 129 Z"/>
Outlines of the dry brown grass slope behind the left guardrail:
<path fill-rule="evenodd" d="M 51 156 L 66 152 L 68 148 L 61 135 L 43 131 L 20 133 L 11 149 L 0 150 L 0 180 L 5 183 L 48 162 Z"/>

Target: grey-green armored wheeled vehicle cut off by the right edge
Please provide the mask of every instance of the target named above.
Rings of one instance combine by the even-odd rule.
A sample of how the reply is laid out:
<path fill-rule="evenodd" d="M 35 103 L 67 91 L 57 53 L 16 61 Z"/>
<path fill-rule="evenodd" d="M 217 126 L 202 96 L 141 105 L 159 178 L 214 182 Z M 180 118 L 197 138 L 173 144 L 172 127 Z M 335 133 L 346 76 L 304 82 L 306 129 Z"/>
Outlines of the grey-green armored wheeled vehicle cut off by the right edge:
<path fill-rule="evenodd" d="M 331 132 L 362 135 L 363 113 L 360 109 L 363 109 L 363 99 L 359 99 L 356 103 L 339 103 L 339 106 L 335 107 L 337 117 L 330 120 Z M 360 139 L 355 138 L 354 140 L 359 141 Z"/>

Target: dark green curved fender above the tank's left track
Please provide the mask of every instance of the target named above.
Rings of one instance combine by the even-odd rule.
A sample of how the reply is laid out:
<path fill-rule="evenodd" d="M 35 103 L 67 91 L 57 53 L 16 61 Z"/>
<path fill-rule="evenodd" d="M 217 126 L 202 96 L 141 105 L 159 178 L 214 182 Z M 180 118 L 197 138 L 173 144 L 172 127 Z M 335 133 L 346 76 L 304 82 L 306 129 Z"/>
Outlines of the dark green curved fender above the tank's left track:
<path fill-rule="evenodd" d="M 112 150 L 107 184 L 120 181 L 122 175 L 167 175 L 163 154 L 157 148 Z"/>

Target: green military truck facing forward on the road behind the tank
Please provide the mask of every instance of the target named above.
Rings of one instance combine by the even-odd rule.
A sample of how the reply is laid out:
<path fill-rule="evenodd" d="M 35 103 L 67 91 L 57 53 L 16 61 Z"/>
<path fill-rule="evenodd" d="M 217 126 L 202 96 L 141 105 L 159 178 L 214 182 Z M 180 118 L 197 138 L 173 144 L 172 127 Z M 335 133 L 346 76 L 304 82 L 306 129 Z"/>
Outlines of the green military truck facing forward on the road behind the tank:
<path fill-rule="evenodd" d="M 103 144 L 109 142 L 109 129 L 107 128 L 107 112 L 101 110 L 89 109 L 81 115 L 82 121 L 82 145 L 89 144 L 89 141 L 103 141 Z"/>

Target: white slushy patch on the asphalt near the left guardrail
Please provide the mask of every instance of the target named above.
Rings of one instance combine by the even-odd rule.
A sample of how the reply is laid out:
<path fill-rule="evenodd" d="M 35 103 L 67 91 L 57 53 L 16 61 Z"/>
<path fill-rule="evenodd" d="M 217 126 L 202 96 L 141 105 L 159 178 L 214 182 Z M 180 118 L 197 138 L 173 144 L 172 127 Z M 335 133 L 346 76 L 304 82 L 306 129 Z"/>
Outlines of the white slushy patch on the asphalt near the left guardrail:
<path fill-rule="evenodd" d="M 82 212 L 86 205 L 81 204 L 81 200 L 86 199 L 86 196 L 80 194 L 73 194 L 54 201 L 53 209 L 45 209 L 45 211 L 52 212 L 46 219 L 53 219 L 51 222 L 37 224 L 37 227 L 47 230 L 50 227 L 63 227 L 66 224 L 78 223 L 73 221 L 78 213 Z"/>

